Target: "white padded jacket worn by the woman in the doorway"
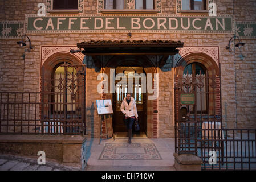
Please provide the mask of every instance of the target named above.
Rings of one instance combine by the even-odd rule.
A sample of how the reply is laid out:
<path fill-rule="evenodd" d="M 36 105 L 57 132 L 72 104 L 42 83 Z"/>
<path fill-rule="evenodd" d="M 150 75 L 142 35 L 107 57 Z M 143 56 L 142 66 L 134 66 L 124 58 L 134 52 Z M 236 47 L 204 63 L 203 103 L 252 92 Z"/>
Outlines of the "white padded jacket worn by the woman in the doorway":
<path fill-rule="evenodd" d="M 123 114 L 125 114 L 126 117 L 131 117 L 131 116 L 135 116 L 136 118 L 138 117 L 136 102 L 133 97 L 131 97 L 131 101 L 129 102 L 129 105 L 126 101 L 126 97 L 124 97 L 124 100 L 121 104 L 121 111 Z"/>

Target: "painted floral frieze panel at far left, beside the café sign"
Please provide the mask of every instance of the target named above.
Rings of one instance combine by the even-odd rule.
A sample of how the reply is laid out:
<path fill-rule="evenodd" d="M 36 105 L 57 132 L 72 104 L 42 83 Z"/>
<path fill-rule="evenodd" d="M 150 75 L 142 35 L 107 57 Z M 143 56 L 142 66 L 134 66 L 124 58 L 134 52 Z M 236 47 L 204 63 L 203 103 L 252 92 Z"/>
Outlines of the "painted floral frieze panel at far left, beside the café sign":
<path fill-rule="evenodd" d="M 2 21 L 0 22 L 0 39 L 19 39 L 24 34 L 23 21 Z"/>

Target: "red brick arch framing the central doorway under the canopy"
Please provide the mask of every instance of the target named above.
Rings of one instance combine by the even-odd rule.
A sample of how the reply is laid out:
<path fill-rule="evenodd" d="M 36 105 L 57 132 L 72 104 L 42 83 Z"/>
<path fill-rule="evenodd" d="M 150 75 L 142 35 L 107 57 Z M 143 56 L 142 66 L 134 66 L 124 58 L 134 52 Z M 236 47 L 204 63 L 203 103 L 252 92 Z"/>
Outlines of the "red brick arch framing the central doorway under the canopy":
<path fill-rule="evenodd" d="M 137 64 L 144 68 L 145 73 L 157 73 L 157 68 L 153 65 L 152 61 L 148 59 L 145 55 L 117 55 L 112 57 L 107 64 L 102 68 L 102 73 L 106 73 L 108 76 L 110 74 L 111 68 L 116 68 L 123 63 L 127 64 Z M 153 77 L 152 77 L 153 79 Z M 110 80 L 110 79 L 109 79 Z M 153 82 L 152 82 L 153 86 Z M 112 93 L 103 93 L 101 94 L 102 99 L 111 99 L 113 101 Z M 159 136 L 159 127 L 158 127 L 158 113 L 154 110 L 158 109 L 157 99 L 148 100 L 147 99 L 147 136 L 149 138 L 158 138 Z M 108 130 L 110 131 L 110 130 Z M 105 132 L 105 126 L 103 122 L 103 133 Z M 111 134 L 109 133 L 109 136 Z"/>

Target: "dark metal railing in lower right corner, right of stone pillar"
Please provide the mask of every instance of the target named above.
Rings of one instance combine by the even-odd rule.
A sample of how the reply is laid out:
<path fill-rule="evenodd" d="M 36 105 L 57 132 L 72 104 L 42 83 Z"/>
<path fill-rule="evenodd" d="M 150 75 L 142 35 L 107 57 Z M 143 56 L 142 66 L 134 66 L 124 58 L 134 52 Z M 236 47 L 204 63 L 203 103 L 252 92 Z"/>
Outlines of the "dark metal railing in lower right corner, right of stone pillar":
<path fill-rule="evenodd" d="M 197 138 L 197 152 L 203 170 L 256 170 L 256 129 L 198 129 L 198 132 L 201 136 Z"/>

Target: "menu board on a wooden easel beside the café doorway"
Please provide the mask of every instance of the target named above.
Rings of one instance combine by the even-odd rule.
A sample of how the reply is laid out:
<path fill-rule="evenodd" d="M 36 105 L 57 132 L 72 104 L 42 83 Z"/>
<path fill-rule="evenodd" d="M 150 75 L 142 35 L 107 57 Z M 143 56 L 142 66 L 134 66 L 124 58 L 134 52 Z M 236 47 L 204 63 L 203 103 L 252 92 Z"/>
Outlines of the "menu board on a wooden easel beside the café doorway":
<path fill-rule="evenodd" d="M 102 130 L 102 119 L 104 118 L 104 123 L 105 123 L 105 129 L 106 129 L 106 136 L 108 134 L 108 127 L 107 127 L 107 120 L 106 120 L 106 115 L 110 115 L 113 114 L 113 109 L 112 109 L 112 104 L 111 104 L 111 100 L 96 100 L 96 104 L 97 104 L 97 113 L 100 117 L 100 127 L 99 127 L 99 144 L 100 144 L 100 140 L 101 140 L 101 130 Z M 110 122 L 111 120 L 109 119 L 110 117 L 108 117 L 108 121 Z M 110 128 L 112 130 L 112 135 L 113 135 L 113 139 L 115 140 L 115 135 L 113 132 L 113 127 L 112 127 L 112 122 L 110 123 Z"/>

